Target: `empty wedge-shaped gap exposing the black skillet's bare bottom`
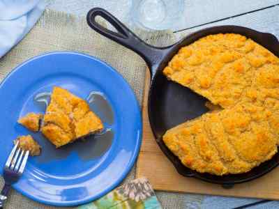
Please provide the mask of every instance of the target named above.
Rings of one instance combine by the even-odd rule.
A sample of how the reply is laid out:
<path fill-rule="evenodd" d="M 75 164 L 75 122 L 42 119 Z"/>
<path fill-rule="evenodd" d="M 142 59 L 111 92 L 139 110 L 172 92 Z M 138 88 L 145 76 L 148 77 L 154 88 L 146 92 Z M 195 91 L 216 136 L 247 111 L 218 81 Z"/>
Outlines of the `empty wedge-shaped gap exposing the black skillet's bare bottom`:
<path fill-rule="evenodd" d="M 152 118 L 153 132 L 158 138 L 170 128 L 209 111 L 204 106 L 206 98 L 190 88 L 169 81 L 162 73 L 156 77 L 152 91 L 149 117 Z"/>

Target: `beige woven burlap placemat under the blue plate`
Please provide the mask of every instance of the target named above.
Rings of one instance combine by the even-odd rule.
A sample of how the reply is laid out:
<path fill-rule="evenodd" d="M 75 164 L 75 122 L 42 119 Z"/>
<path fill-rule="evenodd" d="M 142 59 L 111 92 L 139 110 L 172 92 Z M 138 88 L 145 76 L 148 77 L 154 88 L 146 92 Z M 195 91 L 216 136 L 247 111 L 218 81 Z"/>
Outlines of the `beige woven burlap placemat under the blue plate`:
<path fill-rule="evenodd" d="M 165 46 L 175 41 L 173 34 L 167 31 L 154 33 L 135 31 L 135 33 L 151 45 Z M 6 56 L 0 59 L 0 80 L 23 61 L 52 51 L 82 52 L 105 61 L 123 75 L 135 91 L 139 103 L 142 103 L 146 70 L 146 63 L 143 59 L 129 49 L 100 36 L 90 29 L 86 24 L 85 17 L 75 17 L 53 10 L 46 10 L 31 32 Z M 126 180 L 133 178 L 135 178 L 135 168 L 130 171 Z M 3 178 L 0 178 L 0 186 L 3 186 Z M 166 192 L 157 192 L 157 195 L 163 208 L 183 208 L 189 197 L 195 203 L 199 203 L 202 199 L 200 196 L 186 196 L 185 194 Z M 45 206 L 31 201 L 13 190 L 10 192 L 6 208 L 57 207 Z"/>

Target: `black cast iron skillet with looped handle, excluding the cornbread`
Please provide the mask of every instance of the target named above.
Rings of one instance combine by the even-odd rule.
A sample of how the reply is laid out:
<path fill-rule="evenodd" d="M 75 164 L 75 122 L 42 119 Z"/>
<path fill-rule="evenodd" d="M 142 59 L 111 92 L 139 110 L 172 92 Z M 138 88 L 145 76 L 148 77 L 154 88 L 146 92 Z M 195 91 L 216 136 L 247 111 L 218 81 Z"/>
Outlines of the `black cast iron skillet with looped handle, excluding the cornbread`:
<path fill-rule="evenodd" d="M 115 27 L 117 32 L 105 29 L 96 22 L 96 17 L 103 17 Z M 279 42 L 275 36 L 270 33 L 260 33 L 242 26 L 213 26 L 211 28 L 202 29 L 196 33 L 192 33 L 176 44 L 158 48 L 146 44 L 138 38 L 132 31 L 124 26 L 113 15 L 102 8 L 93 8 L 87 15 L 87 23 L 92 29 L 110 38 L 119 44 L 132 49 L 134 52 L 142 56 L 146 61 L 151 72 L 151 86 L 149 89 L 149 121 L 151 129 L 156 138 L 160 149 L 165 153 L 169 160 L 174 164 L 176 170 L 183 176 L 199 178 L 209 183 L 221 184 L 225 187 L 231 187 L 236 183 L 243 183 L 248 180 L 259 178 L 268 173 L 279 164 L 279 154 L 277 153 L 271 160 L 260 164 L 248 173 L 234 174 L 227 176 L 214 176 L 208 173 L 198 173 L 181 164 L 178 157 L 165 146 L 162 136 L 166 130 L 175 125 L 183 123 L 189 119 L 196 118 L 206 111 L 204 106 L 205 98 L 193 93 L 189 88 L 185 88 L 179 84 L 167 80 L 162 71 L 168 61 L 172 59 L 178 50 L 195 40 L 216 33 L 239 33 L 243 36 L 255 40 L 255 42 L 269 49 L 276 56 L 279 56 Z M 129 57 L 123 57 L 129 59 Z"/>

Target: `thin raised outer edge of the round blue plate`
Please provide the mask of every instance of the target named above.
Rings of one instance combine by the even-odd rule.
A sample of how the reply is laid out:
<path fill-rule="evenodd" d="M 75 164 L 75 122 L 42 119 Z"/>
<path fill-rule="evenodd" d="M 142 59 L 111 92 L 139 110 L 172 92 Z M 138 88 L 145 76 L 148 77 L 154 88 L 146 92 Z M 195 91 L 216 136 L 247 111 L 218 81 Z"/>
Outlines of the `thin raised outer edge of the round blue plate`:
<path fill-rule="evenodd" d="M 138 155 L 140 153 L 140 148 L 141 148 L 141 145 L 142 145 L 142 111 L 140 109 L 140 104 L 139 104 L 139 102 L 137 100 L 135 92 L 133 91 L 133 88 L 131 88 L 130 84 L 126 81 L 126 79 L 116 69 L 114 69 L 110 64 L 106 63 L 105 61 L 101 61 L 96 56 L 91 56 L 89 54 L 85 54 L 85 53 L 82 53 L 82 52 L 75 52 L 75 51 L 64 50 L 64 51 L 46 52 L 46 53 L 43 53 L 43 54 L 38 54 L 37 56 L 33 56 L 30 59 L 27 59 L 27 60 L 23 61 L 19 65 L 16 65 L 13 68 L 13 70 L 8 72 L 6 77 L 4 77 L 4 79 L 0 82 L 0 88 L 3 86 L 4 82 L 6 82 L 6 80 L 9 79 L 9 77 L 11 75 L 13 75 L 15 72 L 17 72 L 17 70 L 22 68 L 23 65 L 29 63 L 30 61 L 33 61 L 33 60 L 36 60 L 36 59 L 40 59 L 41 57 L 44 57 L 44 56 L 57 55 L 57 54 L 73 54 L 75 56 L 85 56 L 85 57 L 87 57 L 89 59 L 93 59 L 94 61 L 98 61 L 102 65 L 105 65 L 117 77 L 119 77 L 119 79 L 121 79 L 122 82 L 124 84 L 126 84 L 126 86 L 128 86 L 129 91 L 131 91 L 133 93 L 133 98 L 132 99 L 133 99 L 133 102 L 135 102 L 135 107 L 137 109 L 137 116 L 139 118 L 138 130 L 140 132 L 139 132 L 139 134 L 137 136 L 137 140 L 135 142 L 135 149 L 134 149 L 133 155 L 130 157 L 130 162 L 128 163 L 128 166 L 126 167 L 126 169 L 122 173 L 122 175 L 119 176 L 119 178 L 117 180 L 115 180 L 114 183 L 112 183 L 112 185 L 107 187 L 107 189 L 104 189 L 102 192 L 99 192 L 99 194 L 89 195 L 86 198 L 81 199 L 81 200 L 77 200 L 77 201 L 47 201 L 45 199 L 41 199 L 41 198 L 38 198 L 36 196 L 32 196 L 28 192 L 25 192 L 24 189 L 22 189 L 20 187 L 17 187 L 15 185 L 12 185 L 13 189 L 15 189 L 17 192 L 20 192 L 20 194 L 26 196 L 27 198 L 29 198 L 29 199 L 31 199 L 33 201 L 37 201 L 39 203 L 43 203 L 43 204 L 46 204 L 46 205 L 49 205 L 49 206 L 62 206 L 62 207 L 66 207 L 66 206 L 80 206 L 82 204 L 89 203 L 90 201 L 94 201 L 96 199 L 99 199 L 100 197 L 104 196 L 105 194 L 111 192 L 114 188 L 119 186 L 119 184 L 128 176 L 128 173 L 130 173 L 131 169 L 133 169 L 133 166 L 135 165 L 135 162 L 136 162 L 137 157 L 138 157 Z"/>

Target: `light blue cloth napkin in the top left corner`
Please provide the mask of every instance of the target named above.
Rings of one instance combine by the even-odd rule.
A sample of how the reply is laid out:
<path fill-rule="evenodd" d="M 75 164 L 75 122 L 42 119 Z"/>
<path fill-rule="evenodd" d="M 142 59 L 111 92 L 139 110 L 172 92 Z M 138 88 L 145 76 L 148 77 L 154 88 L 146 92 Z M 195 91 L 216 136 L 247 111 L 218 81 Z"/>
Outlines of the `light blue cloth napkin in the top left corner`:
<path fill-rule="evenodd" d="M 0 0 L 0 58 L 24 38 L 45 6 L 45 0 Z"/>

